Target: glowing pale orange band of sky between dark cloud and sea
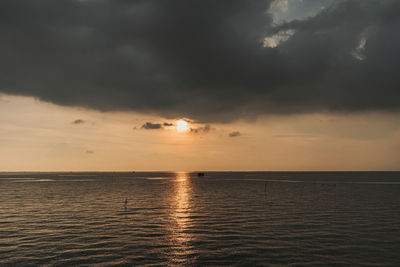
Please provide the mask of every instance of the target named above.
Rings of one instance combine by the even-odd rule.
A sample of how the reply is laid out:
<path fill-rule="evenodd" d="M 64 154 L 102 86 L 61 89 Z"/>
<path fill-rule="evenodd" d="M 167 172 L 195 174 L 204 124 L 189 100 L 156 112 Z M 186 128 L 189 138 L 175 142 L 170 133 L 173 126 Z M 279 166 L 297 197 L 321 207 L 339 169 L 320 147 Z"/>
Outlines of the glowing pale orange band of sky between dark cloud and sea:
<path fill-rule="evenodd" d="M 187 131 L 177 131 L 178 119 L 0 95 L 0 171 L 400 169 L 399 114 L 189 121 Z M 144 129 L 146 122 L 174 125 Z"/>

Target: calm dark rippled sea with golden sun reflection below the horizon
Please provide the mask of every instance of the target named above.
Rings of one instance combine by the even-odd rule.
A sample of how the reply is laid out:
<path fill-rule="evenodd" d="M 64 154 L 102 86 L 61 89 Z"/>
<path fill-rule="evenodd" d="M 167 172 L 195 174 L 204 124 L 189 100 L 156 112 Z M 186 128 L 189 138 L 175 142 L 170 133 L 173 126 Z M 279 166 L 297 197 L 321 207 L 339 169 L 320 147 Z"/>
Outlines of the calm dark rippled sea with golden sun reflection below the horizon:
<path fill-rule="evenodd" d="M 400 266 L 400 172 L 0 173 L 0 265 L 91 264 Z"/>

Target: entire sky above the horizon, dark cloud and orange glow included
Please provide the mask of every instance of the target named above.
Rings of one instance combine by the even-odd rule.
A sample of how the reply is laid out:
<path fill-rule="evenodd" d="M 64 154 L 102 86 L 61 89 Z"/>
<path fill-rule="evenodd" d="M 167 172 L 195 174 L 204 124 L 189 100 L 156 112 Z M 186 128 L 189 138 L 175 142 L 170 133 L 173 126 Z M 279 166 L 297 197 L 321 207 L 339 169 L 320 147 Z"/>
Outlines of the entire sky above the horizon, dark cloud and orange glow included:
<path fill-rule="evenodd" d="M 399 11 L 1 1 L 0 171 L 399 170 Z"/>

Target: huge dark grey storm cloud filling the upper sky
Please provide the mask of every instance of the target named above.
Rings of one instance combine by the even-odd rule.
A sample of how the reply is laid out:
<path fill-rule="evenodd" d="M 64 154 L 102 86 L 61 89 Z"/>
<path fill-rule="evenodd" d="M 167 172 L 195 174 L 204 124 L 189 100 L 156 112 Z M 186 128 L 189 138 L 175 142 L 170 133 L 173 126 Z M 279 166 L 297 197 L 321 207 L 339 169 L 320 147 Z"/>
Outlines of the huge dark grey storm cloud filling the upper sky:
<path fill-rule="evenodd" d="M 400 1 L 280 25 L 271 2 L 0 1 L 0 91 L 204 122 L 399 110 Z"/>

